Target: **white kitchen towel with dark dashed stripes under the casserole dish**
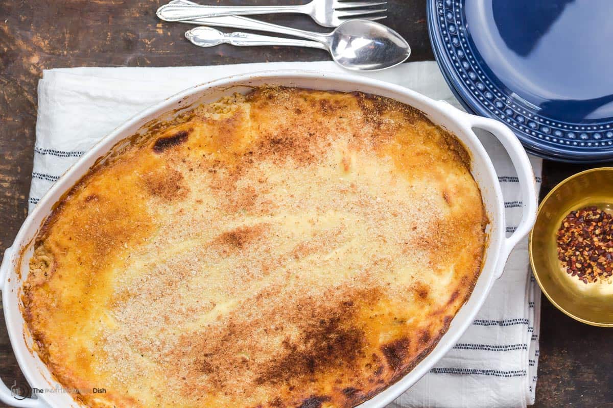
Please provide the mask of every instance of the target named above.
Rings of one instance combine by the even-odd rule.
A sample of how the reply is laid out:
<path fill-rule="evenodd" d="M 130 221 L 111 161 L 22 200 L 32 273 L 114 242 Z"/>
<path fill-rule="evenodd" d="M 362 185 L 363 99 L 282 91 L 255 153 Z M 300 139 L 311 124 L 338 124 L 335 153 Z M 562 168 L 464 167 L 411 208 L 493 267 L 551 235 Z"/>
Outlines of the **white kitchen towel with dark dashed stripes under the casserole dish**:
<path fill-rule="evenodd" d="M 142 109 L 189 86 L 261 70 L 343 72 L 333 62 L 275 62 L 167 68 L 70 68 L 46 70 L 39 108 L 30 209 L 45 191 L 103 136 Z M 362 74 L 459 106 L 435 62 L 402 64 Z M 519 184 L 505 150 L 487 133 L 479 136 L 504 193 L 507 232 L 520 219 Z M 539 158 L 531 162 L 540 187 Z M 539 300 L 531 278 L 527 240 L 517 245 L 492 293 L 459 343 L 414 387 L 390 404 L 405 407 L 525 407 L 535 398 Z"/>

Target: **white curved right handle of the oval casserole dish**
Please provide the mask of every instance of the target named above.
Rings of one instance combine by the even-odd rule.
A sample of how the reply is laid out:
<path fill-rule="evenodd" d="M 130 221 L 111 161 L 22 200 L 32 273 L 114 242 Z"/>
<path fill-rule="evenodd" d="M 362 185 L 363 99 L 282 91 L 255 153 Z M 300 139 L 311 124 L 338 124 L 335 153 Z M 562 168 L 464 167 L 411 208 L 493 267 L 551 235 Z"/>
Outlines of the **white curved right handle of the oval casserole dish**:
<path fill-rule="evenodd" d="M 497 265 L 496 278 L 500 278 L 504 270 L 507 258 L 517 243 L 527 236 L 536 220 L 536 209 L 538 208 L 538 196 L 536 195 L 535 175 L 532 165 L 524 147 L 512 132 L 502 122 L 487 117 L 475 116 L 466 113 L 466 118 L 471 128 L 479 128 L 492 133 L 495 138 L 502 143 L 504 149 L 511 157 L 511 161 L 517 172 L 519 188 L 522 202 L 522 220 L 510 237 L 504 239 L 503 247 L 499 254 L 499 264 Z"/>

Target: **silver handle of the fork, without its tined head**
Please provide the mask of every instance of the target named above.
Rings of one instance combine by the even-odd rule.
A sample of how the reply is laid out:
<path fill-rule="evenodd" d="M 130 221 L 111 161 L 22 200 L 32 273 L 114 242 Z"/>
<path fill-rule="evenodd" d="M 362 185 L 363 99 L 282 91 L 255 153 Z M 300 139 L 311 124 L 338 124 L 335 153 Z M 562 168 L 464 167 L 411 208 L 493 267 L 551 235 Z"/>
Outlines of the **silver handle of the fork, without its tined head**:
<path fill-rule="evenodd" d="M 223 17 L 229 15 L 254 15 L 268 13 L 302 13 L 311 11 L 310 4 L 298 6 L 202 6 L 200 4 L 164 4 L 157 15 L 165 21 L 192 20 L 194 18 Z"/>

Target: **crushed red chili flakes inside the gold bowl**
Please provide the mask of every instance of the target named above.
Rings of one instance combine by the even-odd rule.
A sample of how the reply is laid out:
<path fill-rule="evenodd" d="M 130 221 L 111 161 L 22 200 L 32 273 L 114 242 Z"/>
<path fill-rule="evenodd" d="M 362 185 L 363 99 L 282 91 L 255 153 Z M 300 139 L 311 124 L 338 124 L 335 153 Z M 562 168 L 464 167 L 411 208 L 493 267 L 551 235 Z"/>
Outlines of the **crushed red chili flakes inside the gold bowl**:
<path fill-rule="evenodd" d="M 571 211 L 557 232 L 558 259 L 584 283 L 613 275 L 613 215 L 597 207 Z"/>

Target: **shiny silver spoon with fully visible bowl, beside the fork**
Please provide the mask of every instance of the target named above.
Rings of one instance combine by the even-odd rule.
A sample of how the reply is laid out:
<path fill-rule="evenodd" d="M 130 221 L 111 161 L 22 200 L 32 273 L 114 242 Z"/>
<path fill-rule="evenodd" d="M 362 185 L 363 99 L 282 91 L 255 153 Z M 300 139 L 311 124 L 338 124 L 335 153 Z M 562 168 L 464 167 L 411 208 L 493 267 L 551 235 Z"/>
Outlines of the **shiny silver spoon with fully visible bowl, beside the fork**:
<path fill-rule="evenodd" d="M 173 3 L 190 4 L 185 0 L 175 0 Z M 317 41 L 332 54 L 337 64 L 354 71 L 394 67 L 411 54 L 411 47 L 400 34 L 383 24 L 368 20 L 347 20 L 327 33 L 299 30 L 239 16 L 194 18 L 182 22 L 276 32 Z"/>

